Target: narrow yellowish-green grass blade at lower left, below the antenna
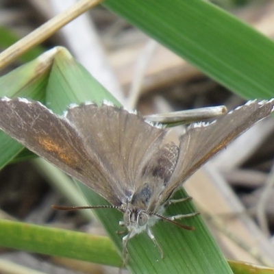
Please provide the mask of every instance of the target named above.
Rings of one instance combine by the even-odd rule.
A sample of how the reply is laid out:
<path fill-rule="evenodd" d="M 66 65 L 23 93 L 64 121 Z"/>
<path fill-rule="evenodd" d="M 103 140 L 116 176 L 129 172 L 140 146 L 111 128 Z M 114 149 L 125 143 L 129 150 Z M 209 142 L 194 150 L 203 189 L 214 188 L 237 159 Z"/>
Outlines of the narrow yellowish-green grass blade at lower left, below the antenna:
<path fill-rule="evenodd" d="M 28 223 L 0 220 L 0 246 L 64 256 L 110 266 L 121 259 L 107 237 Z"/>

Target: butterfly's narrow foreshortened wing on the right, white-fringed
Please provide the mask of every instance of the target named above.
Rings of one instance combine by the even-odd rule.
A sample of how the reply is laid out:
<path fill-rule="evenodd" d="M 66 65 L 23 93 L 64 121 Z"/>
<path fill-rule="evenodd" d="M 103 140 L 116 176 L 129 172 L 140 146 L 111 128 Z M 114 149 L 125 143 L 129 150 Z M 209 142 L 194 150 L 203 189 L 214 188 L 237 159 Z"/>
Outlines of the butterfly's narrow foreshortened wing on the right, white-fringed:
<path fill-rule="evenodd" d="M 274 100 L 249 101 L 210 124 L 195 123 L 180 137 L 179 157 L 173 175 L 162 192 L 159 203 L 192 173 L 223 149 L 234 138 L 273 112 Z"/>

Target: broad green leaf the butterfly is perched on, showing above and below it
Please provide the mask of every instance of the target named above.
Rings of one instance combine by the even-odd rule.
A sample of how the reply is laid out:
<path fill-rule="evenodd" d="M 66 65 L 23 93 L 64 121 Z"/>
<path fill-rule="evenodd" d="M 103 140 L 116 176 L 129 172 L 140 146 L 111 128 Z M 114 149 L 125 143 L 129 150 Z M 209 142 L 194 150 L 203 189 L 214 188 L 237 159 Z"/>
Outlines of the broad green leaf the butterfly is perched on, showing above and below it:
<path fill-rule="evenodd" d="M 63 54 L 63 53 L 62 53 Z M 85 74 L 84 81 L 79 81 L 74 71 L 77 63 L 73 58 L 56 58 L 51 77 L 47 98 L 49 106 L 54 112 L 62 112 L 69 103 L 79 103 L 82 100 L 96 101 L 101 103 L 103 99 L 113 100 L 110 94 L 98 87 L 95 79 Z M 79 67 L 82 75 L 82 66 Z M 69 82 L 69 87 L 67 87 Z M 89 83 L 86 86 L 86 83 Z M 58 92 L 56 92 L 58 90 Z M 78 98 L 79 96 L 79 98 Z M 71 101 L 73 100 L 73 101 Z M 116 100 L 114 103 L 117 103 Z M 79 184 L 90 205 L 107 204 L 95 192 Z M 183 190 L 181 195 L 186 195 Z M 194 212 L 192 203 L 173 205 L 167 214 Z M 121 252 L 121 236 L 116 234 L 119 221 L 122 220 L 121 212 L 116 210 L 96 210 L 97 216 L 103 223 L 110 238 Z M 130 253 L 129 269 L 132 273 L 232 273 L 225 258 L 212 240 L 201 217 L 184 220 L 186 225 L 196 227 L 195 231 L 184 231 L 169 223 L 159 222 L 153 227 L 153 232 L 164 250 L 165 258 L 161 260 L 158 249 L 153 245 L 147 234 L 140 234 L 129 240 L 128 249 Z"/>

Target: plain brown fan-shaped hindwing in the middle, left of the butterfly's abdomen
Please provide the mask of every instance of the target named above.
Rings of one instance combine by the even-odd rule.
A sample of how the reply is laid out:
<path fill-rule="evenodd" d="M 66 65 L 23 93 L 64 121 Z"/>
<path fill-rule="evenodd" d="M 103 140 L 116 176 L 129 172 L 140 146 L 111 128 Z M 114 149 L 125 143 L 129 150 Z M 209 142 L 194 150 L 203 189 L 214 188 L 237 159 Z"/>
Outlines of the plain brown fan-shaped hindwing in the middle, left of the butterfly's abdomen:
<path fill-rule="evenodd" d="M 144 184 L 143 169 L 162 144 L 166 130 L 111 105 L 80 105 L 69 109 L 66 119 L 77 127 L 87 152 L 96 155 L 101 169 L 111 174 L 115 195 L 126 202 Z"/>

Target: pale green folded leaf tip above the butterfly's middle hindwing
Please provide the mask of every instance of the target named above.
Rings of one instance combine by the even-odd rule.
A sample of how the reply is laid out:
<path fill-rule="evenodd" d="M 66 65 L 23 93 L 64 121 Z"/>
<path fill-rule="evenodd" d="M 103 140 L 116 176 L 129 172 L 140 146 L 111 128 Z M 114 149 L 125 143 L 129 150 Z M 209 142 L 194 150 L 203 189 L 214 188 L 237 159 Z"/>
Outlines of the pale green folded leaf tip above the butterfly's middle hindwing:
<path fill-rule="evenodd" d="M 70 103 L 92 101 L 100 105 L 103 99 L 121 106 L 96 79 L 90 77 L 88 71 L 73 59 L 69 51 L 62 47 L 58 49 L 47 86 L 46 104 L 49 108 L 62 114 Z"/>

